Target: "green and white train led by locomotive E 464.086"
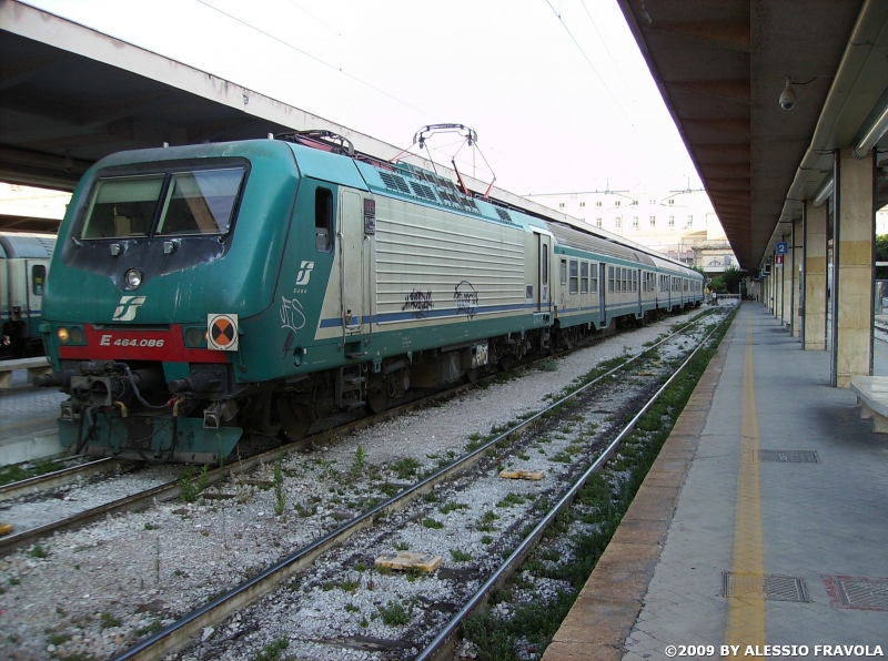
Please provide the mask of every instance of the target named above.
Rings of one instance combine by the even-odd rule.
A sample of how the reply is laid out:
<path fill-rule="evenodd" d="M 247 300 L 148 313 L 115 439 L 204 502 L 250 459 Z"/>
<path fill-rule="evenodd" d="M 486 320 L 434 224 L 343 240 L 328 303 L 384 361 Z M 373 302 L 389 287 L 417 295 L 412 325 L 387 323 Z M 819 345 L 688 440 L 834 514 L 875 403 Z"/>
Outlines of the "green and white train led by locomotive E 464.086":
<path fill-rule="evenodd" d="M 703 276 L 345 140 L 107 156 L 79 183 L 41 332 L 72 452 L 214 464 L 245 435 L 474 380 L 698 306 Z"/>

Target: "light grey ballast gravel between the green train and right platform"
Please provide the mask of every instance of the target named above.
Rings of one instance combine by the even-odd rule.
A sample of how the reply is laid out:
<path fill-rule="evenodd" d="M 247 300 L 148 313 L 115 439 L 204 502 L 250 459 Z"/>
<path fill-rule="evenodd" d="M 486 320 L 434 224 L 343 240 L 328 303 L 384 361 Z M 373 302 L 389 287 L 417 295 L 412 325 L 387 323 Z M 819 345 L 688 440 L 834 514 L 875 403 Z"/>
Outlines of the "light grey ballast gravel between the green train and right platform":
<path fill-rule="evenodd" d="M 374 499 L 386 497 L 381 488 L 397 489 L 412 484 L 418 472 L 431 471 L 448 458 L 462 455 L 471 438 L 483 437 L 492 427 L 539 410 L 546 396 L 561 391 L 598 363 L 637 353 L 670 325 L 688 318 L 689 314 L 674 316 L 604 339 L 551 360 L 547 368 L 524 369 L 505 383 L 471 390 L 440 406 L 342 438 L 327 435 L 314 450 L 282 459 L 280 487 L 275 487 L 273 466 L 266 465 L 248 476 L 214 485 L 195 502 L 155 502 L 148 510 L 57 533 L 34 547 L 0 558 L 0 658 L 10 661 L 110 658 L 364 511 Z M 619 388 L 615 387 L 613 401 L 603 405 L 605 408 L 599 411 L 603 425 L 606 409 L 615 410 L 619 397 Z M 569 439 L 553 439 L 553 447 L 539 449 L 552 456 L 555 446 L 565 443 Z M 513 464 L 533 468 L 536 451 L 529 450 L 526 460 Z M 496 485 L 490 488 L 517 496 L 529 496 L 538 489 L 529 481 L 511 481 L 505 487 L 496 480 L 488 482 Z M 65 497 L 97 498 L 95 487 L 99 485 L 72 485 L 65 488 Z M 354 602 L 354 594 L 342 588 L 343 579 L 337 571 L 343 562 L 372 567 L 376 555 L 392 550 L 391 537 L 384 538 L 392 528 L 387 527 L 385 533 L 374 528 L 360 533 L 363 552 L 355 556 L 350 542 L 349 549 L 320 558 L 310 572 L 293 579 L 292 592 L 294 598 L 299 597 L 294 603 L 311 606 L 294 610 L 283 600 L 278 603 L 262 600 L 219 624 L 219 630 L 205 630 L 203 641 L 186 651 L 184 658 L 254 659 L 255 650 L 249 645 L 240 652 L 235 649 L 241 647 L 238 640 L 251 635 L 254 627 L 249 622 L 254 609 L 264 609 L 262 620 L 272 618 L 280 622 L 281 631 L 286 630 L 287 621 L 300 627 L 299 641 L 290 641 L 281 658 L 377 658 L 385 650 L 375 649 L 373 640 L 397 637 L 381 617 L 371 619 L 372 613 L 411 600 L 414 603 L 435 600 L 436 591 L 443 600 L 453 580 L 461 581 L 464 588 L 477 583 L 471 572 L 461 574 L 461 562 L 455 559 L 458 556 L 451 551 L 471 555 L 482 543 L 475 523 L 483 516 L 482 510 L 491 507 L 474 506 L 496 502 L 503 497 L 498 491 L 474 491 L 484 488 L 488 487 L 458 477 L 448 486 L 446 498 L 468 507 L 442 515 L 437 509 L 442 502 L 427 504 L 430 518 L 442 522 L 446 519 L 443 530 L 407 526 L 410 512 L 391 517 L 392 525 L 403 528 L 403 545 L 411 550 L 444 556 L 446 572 L 411 582 L 403 574 L 355 570 L 351 580 L 364 587 L 372 580 L 374 589 L 365 590 L 372 592 L 369 604 Z M 461 489 L 465 489 L 462 496 Z M 498 528 L 514 522 L 509 516 L 516 515 L 511 515 L 508 508 L 495 509 L 501 517 L 495 522 Z M 32 516 L 37 518 L 40 513 Z M 398 518 L 402 516 L 403 520 Z M 343 553 L 354 557 L 342 557 Z M 339 587 L 326 582 L 325 573 L 335 574 Z M 305 599 L 307 596 L 312 599 Z M 343 635 L 342 631 L 330 630 L 326 614 L 332 611 L 353 617 L 355 630 L 363 631 L 361 640 L 349 640 L 341 647 L 332 644 L 331 640 Z M 436 617 L 444 622 L 450 613 Z M 362 626 L 364 620 L 366 626 Z M 213 655 L 204 655 L 210 652 Z M 223 655 L 219 657 L 220 653 Z"/>

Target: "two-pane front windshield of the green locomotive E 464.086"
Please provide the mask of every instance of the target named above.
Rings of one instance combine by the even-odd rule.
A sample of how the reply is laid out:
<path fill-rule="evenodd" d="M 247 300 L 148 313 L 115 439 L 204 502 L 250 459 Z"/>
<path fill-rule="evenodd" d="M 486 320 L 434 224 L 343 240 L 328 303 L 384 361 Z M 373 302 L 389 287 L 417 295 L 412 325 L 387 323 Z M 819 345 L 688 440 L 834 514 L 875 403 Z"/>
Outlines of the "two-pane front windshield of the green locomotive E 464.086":
<path fill-rule="evenodd" d="M 230 167 L 100 179 L 80 237 L 225 234 L 243 176 Z"/>

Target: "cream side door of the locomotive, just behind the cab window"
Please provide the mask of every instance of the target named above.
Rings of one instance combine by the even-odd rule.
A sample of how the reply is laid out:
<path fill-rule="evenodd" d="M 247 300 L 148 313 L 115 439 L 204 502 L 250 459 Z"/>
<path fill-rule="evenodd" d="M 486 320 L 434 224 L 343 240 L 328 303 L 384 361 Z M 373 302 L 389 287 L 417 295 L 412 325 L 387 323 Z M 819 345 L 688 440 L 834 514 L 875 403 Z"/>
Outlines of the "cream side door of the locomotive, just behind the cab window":
<path fill-rule="evenodd" d="M 340 199 L 340 286 L 342 325 L 346 335 L 364 330 L 370 297 L 370 242 L 364 237 L 361 195 L 343 191 Z"/>

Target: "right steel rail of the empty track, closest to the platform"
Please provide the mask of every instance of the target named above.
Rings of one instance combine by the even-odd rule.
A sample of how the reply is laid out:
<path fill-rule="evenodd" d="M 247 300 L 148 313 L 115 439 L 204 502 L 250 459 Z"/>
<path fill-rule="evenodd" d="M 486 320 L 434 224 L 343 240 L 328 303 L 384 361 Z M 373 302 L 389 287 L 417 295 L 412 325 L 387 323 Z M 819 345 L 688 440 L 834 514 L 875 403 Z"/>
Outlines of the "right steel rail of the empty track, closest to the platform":
<path fill-rule="evenodd" d="M 703 348 L 713 334 L 725 323 L 730 315 L 726 316 L 725 319 L 722 319 L 716 326 L 704 337 L 697 347 L 690 353 L 690 355 L 685 359 L 678 369 L 676 369 L 675 374 L 673 374 L 666 383 L 654 394 L 654 396 L 648 399 L 648 401 L 640 408 L 640 410 L 629 420 L 629 423 L 620 430 L 620 433 L 614 438 L 610 445 L 605 448 L 605 450 L 598 456 L 595 461 L 586 469 L 586 471 L 577 479 L 576 482 L 571 487 L 571 489 L 565 492 L 565 495 L 558 500 L 558 502 L 549 510 L 549 512 L 536 525 L 533 531 L 517 546 L 517 548 L 506 558 L 505 561 L 496 569 L 496 571 L 491 574 L 491 577 L 482 584 L 481 588 L 472 596 L 472 598 L 463 606 L 462 609 L 451 619 L 447 624 L 435 635 L 434 639 L 425 647 L 425 649 L 420 652 L 420 654 L 415 658 L 414 661 L 438 661 L 443 660 L 447 657 L 447 654 L 452 651 L 451 643 L 453 642 L 453 635 L 457 632 L 457 629 L 462 624 L 463 620 L 473 613 L 480 606 L 482 606 L 487 596 L 492 590 L 502 586 L 507 580 L 514 576 L 515 570 L 521 567 L 524 560 L 529 556 L 531 551 L 536 546 L 536 542 L 539 538 L 543 537 L 543 533 L 546 531 L 548 526 L 552 521 L 555 520 L 555 517 L 567 506 L 569 506 L 576 494 L 583 486 L 586 484 L 588 478 L 601 470 L 605 464 L 610 459 L 610 457 L 616 451 L 617 447 L 623 443 L 626 436 L 635 429 L 635 426 L 638 424 L 638 420 L 642 418 L 644 414 L 648 411 L 648 409 L 654 405 L 654 403 L 663 395 L 664 391 L 669 387 L 669 385 L 678 377 L 679 374 L 690 364 L 690 360 L 694 359 L 694 356 L 697 352 Z"/>

